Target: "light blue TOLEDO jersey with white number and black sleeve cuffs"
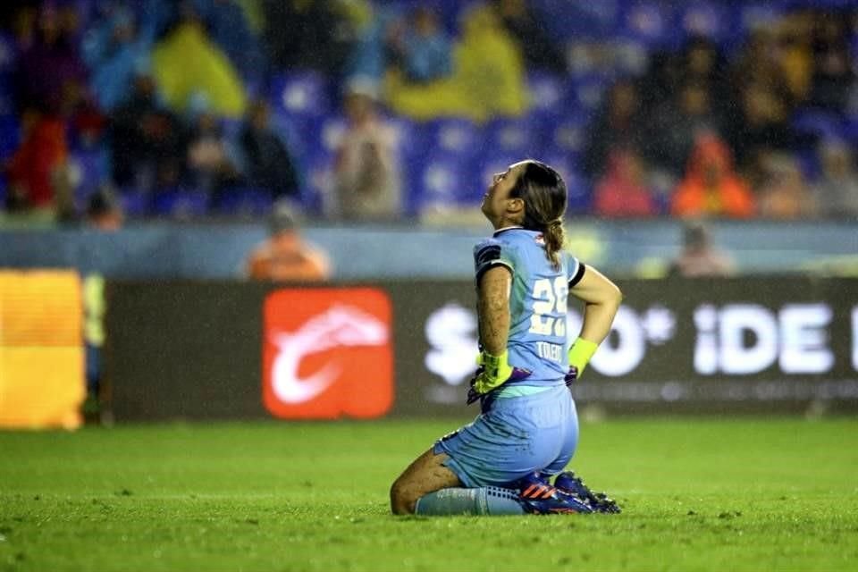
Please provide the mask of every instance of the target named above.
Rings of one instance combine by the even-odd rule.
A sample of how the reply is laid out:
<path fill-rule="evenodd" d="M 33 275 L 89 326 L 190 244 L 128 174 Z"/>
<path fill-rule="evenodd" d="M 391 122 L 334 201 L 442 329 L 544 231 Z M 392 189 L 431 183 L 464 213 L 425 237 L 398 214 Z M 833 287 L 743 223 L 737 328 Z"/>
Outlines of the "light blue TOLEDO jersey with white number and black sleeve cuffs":
<path fill-rule="evenodd" d="M 569 368 L 567 299 L 584 266 L 566 252 L 555 269 L 545 255 L 543 234 L 514 227 L 496 231 L 474 248 L 476 280 L 493 266 L 512 273 L 509 293 L 509 365 L 533 372 L 521 385 L 553 385 Z M 513 383 L 508 383 L 512 385 Z M 505 385 L 508 385 L 505 384 Z"/>

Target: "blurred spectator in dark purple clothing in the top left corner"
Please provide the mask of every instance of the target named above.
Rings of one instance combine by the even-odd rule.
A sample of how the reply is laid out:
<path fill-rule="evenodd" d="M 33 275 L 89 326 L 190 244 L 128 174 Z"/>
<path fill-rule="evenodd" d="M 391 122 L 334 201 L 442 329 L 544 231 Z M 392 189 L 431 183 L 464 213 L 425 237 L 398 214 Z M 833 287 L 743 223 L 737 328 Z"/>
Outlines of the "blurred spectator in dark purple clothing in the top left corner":
<path fill-rule="evenodd" d="M 15 75 L 18 108 L 37 105 L 57 113 L 65 90 L 75 84 L 84 85 L 87 78 L 77 48 L 79 30 L 74 7 L 42 4 L 37 26 L 32 44 L 21 46 Z"/>

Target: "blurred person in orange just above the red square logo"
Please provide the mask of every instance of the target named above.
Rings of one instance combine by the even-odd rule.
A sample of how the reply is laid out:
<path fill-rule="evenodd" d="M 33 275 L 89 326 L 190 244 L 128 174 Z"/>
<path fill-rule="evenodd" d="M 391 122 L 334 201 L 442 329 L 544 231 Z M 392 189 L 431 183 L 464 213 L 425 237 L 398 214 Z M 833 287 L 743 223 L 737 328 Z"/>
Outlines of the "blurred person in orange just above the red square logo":
<path fill-rule="evenodd" d="M 285 205 L 274 207 L 269 237 L 248 256 L 246 272 L 253 280 L 319 282 L 331 277 L 325 254 L 300 235 L 294 214 Z"/>

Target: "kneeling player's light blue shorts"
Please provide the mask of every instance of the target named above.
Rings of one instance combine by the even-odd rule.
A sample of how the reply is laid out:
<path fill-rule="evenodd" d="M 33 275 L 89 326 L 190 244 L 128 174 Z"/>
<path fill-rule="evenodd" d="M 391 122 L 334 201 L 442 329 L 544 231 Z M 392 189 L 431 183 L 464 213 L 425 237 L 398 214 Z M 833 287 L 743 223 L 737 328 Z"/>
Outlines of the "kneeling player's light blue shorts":
<path fill-rule="evenodd" d="M 469 425 L 435 442 L 444 466 L 467 487 L 504 486 L 534 471 L 554 475 L 578 444 L 575 402 L 565 384 L 494 400 Z"/>

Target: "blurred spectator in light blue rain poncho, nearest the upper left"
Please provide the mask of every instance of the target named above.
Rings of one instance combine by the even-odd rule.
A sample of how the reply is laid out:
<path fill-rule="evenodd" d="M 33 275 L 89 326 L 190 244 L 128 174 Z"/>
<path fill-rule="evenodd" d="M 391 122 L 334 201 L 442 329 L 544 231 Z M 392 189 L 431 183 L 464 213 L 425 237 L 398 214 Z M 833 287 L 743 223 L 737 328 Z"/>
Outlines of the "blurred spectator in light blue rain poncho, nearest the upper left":
<path fill-rule="evenodd" d="M 138 22 L 130 10 L 117 8 L 90 29 L 83 42 L 83 56 L 91 73 L 89 87 L 105 112 L 122 104 L 130 94 L 137 71 L 147 63 L 155 42 L 156 19 L 142 12 Z"/>

